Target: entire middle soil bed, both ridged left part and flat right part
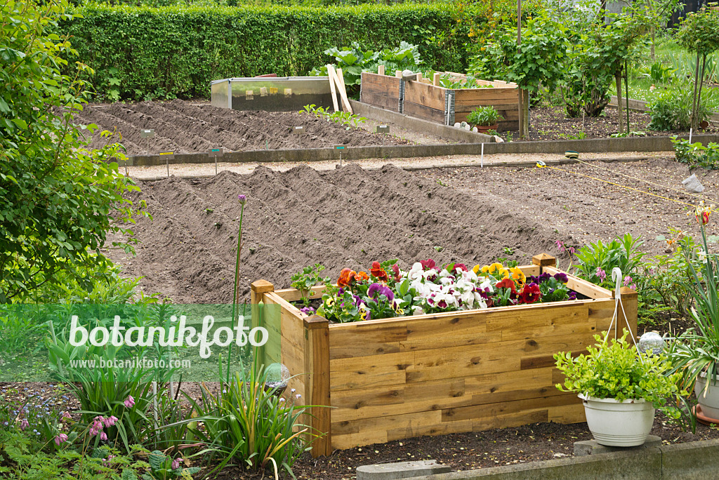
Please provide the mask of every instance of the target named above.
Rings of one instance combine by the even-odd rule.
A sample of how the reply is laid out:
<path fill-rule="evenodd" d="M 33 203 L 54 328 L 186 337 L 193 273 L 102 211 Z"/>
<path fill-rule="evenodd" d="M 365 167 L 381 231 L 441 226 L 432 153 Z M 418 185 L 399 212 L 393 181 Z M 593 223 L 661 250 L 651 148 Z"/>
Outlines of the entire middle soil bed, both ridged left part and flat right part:
<path fill-rule="evenodd" d="M 427 258 L 473 266 L 507 257 L 528 264 L 546 252 L 567 268 L 569 258 L 556 241 L 579 247 L 627 233 L 641 235 L 648 254 L 664 254 L 667 244 L 656 237 L 668 238 L 669 228 L 698 235 L 689 204 L 707 198 L 719 205 L 719 172 L 695 172 L 706 187 L 698 197 L 659 186 L 680 189 L 690 175 L 672 160 L 559 170 L 346 165 L 318 172 L 303 165 L 275 172 L 260 166 L 248 175 L 139 181 L 142 193 L 132 200 L 145 200 L 154 220 L 138 218 L 132 226 L 135 257 L 119 251 L 111 257 L 124 274 L 143 277 L 145 292 L 176 303 L 229 302 L 241 193 L 247 195 L 239 271 L 244 299 L 251 282 L 289 287 L 292 274 L 316 263 L 335 278 L 344 267 L 368 269 L 374 260 L 398 258 L 403 268 Z M 719 233 L 715 224 L 709 233 Z"/>

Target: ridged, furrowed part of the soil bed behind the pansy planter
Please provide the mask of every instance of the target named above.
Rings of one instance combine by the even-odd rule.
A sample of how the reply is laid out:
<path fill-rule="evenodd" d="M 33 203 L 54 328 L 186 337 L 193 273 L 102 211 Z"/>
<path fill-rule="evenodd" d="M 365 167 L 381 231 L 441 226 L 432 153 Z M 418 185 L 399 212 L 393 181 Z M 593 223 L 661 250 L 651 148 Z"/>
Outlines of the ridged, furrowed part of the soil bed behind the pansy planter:
<path fill-rule="evenodd" d="M 499 196 L 478 198 L 393 165 L 370 172 L 356 165 L 329 172 L 258 167 L 250 175 L 170 177 L 140 187 L 133 200 L 146 200 L 154 221 L 138 220 L 137 257 L 122 263 L 127 274 L 145 276 L 146 290 L 178 303 L 232 298 L 240 193 L 247 195 L 243 297 L 252 281 L 289 287 L 292 274 L 318 262 L 334 278 L 344 267 L 367 269 L 392 258 L 403 268 L 427 258 L 473 266 L 512 246 L 513 258 L 527 264 L 531 255 L 552 251 L 556 239 L 549 226 Z"/>

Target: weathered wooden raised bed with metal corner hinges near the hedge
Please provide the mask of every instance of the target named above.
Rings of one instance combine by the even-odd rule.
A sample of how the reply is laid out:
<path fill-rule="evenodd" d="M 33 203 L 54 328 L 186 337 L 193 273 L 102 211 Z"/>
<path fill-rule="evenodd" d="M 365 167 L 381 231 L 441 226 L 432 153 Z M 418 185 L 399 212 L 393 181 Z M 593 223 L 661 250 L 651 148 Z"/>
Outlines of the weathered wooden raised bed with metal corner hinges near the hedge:
<path fill-rule="evenodd" d="M 459 80 L 462 75 L 457 75 Z M 519 129 L 519 91 L 516 83 L 499 80 L 477 80 L 493 88 L 460 88 L 452 90 L 426 81 L 362 73 L 359 101 L 401 114 L 416 116 L 444 125 L 467 120 L 478 106 L 493 106 L 503 117 L 498 131 Z"/>

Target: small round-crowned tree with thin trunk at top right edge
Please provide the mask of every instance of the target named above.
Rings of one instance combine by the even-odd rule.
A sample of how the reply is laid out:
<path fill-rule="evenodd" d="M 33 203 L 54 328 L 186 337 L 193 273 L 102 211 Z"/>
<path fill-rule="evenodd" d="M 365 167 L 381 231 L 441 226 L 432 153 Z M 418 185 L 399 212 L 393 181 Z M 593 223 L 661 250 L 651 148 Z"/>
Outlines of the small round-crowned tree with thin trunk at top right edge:
<path fill-rule="evenodd" d="M 697 54 L 694 71 L 694 99 L 692 101 L 692 128 L 699 128 L 700 101 L 704 83 L 707 55 L 719 50 L 719 11 L 702 8 L 695 14 L 688 14 L 679 27 L 677 42 L 690 52 Z M 700 66 L 701 64 L 701 66 Z"/>

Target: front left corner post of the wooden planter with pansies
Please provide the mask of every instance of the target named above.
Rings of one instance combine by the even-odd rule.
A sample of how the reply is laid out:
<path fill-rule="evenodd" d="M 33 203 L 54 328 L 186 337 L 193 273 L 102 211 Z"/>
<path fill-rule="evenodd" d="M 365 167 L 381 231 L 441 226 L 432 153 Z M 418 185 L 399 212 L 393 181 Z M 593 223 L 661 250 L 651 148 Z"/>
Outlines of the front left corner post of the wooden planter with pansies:
<path fill-rule="evenodd" d="M 331 402 L 329 398 L 329 321 L 319 315 L 305 320 L 305 404 L 308 425 L 314 435 L 312 456 L 332 453 Z"/>

